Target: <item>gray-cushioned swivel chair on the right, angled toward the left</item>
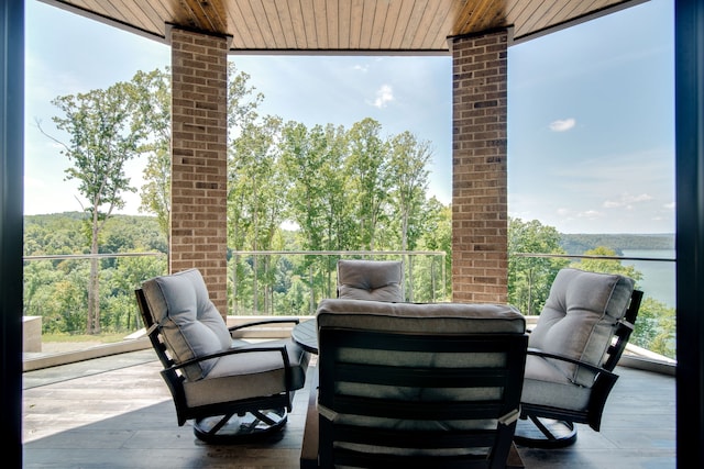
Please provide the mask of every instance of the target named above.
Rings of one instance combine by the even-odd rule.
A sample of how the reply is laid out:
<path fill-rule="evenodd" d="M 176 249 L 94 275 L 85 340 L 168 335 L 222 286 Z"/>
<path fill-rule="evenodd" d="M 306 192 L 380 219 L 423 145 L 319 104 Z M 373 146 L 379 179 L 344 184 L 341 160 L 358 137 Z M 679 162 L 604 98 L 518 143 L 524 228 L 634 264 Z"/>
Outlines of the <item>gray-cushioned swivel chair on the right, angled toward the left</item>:
<path fill-rule="evenodd" d="M 576 440 L 575 423 L 600 431 L 606 398 L 618 379 L 613 370 L 641 299 L 624 276 L 558 272 L 529 334 L 517 444 L 569 446 Z"/>

